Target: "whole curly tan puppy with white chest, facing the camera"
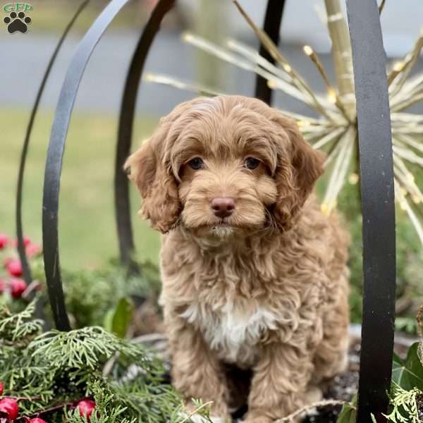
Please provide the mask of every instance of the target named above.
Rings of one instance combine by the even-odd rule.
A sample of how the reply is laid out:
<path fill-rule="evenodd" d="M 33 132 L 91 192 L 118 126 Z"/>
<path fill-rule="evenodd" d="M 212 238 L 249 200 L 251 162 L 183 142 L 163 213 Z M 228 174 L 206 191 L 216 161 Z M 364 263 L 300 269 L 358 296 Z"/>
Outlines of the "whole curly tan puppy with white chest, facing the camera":
<path fill-rule="evenodd" d="M 142 216 L 164 233 L 161 305 L 173 384 L 230 421 L 252 372 L 247 423 L 319 399 L 345 369 L 348 236 L 312 195 L 321 154 L 295 122 L 240 96 L 197 98 L 129 157 Z"/>

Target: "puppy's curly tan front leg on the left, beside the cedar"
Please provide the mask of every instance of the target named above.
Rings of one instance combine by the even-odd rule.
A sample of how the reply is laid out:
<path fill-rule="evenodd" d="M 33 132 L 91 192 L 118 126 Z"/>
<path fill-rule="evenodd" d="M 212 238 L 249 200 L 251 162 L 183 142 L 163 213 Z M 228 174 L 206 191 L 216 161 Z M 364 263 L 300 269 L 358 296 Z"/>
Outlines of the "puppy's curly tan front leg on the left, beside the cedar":
<path fill-rule="evenodd" d="M 216 422 L 229 421 L 228 388 L 216 353 L 204 342 L 202 333 L 180 317 L 168 319 L 173 385 L 183 394 L 188 412 L 191 398 L 213 401 L 211 416 Z"/>

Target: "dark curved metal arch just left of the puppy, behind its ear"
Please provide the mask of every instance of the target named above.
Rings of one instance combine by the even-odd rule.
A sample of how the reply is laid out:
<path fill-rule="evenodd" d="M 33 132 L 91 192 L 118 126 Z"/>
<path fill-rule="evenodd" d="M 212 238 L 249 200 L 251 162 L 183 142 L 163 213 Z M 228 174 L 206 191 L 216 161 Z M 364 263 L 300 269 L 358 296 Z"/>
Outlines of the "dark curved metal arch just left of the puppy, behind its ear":
<path fill-rule="evenodd" d="M 147 59 L 154 38 L 159 31 L 161 20 L 163 20 L 166 13 L 171 10 L 175 1 L 176 0 L 159 0 L 152 11 L 147 25 L 145 25 L 140 39 L 138 40 L 137 47 L 135 47 L 128 74 L 126 75 L 125 87 L 123 89 L 118 125 L 118 139 L 116 143 L 114 195 L 116 229 L 118 233 L 121 264 L 128 266 L 130 271 L 138 271 L 138 269 L 135 262 L 132 260 L 135 247 L 132 221 L 130 218 L 129 182 L 126 173 L 123 171 L 123 164 L 130 154 L 135 106 L 145 60 Z"/>

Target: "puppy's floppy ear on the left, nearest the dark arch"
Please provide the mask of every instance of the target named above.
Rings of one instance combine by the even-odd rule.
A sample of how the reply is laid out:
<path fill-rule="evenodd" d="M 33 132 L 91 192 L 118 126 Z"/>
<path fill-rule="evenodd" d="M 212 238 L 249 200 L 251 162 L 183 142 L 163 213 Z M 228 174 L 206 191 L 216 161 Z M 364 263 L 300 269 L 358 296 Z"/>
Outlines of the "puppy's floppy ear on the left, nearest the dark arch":
<path fill-rule="evenodd" d="M 161 122 L 152 138 L 124 166 L 130 169 L 129 178 L 140 190 L 143 200 L 140 214 L 150 219 L 152 227 L 161 233 L 168 232 L 180 214 L 178 187 L 164 154 L 168 127 L 168 123 Z"/>

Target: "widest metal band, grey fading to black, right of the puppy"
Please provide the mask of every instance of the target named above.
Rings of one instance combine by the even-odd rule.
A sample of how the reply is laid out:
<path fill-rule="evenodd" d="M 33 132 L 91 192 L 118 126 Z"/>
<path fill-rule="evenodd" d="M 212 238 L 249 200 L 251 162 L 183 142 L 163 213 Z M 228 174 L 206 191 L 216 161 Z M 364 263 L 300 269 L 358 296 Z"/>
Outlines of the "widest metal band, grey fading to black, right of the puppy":
<path fill-rule="evenodd" d="M 386 422 L 395 320 L 396 250 L 386 55 L 375 0 L 348 0 L 360 150 L 363 321 L 357 422 Z"/>

